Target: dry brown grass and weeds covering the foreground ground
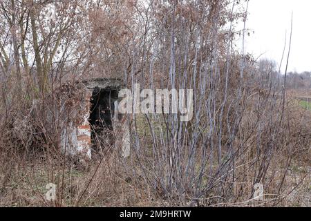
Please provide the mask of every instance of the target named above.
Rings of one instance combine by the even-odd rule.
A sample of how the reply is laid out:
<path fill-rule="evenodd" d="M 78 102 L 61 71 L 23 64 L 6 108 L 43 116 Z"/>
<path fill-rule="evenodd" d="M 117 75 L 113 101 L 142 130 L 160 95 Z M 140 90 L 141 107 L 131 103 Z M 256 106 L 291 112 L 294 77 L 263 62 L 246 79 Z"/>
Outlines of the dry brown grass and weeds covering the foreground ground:
<path fill-rule="evenodd" d="M 200 206 L 310 206 L 310 119 L 311 113 L 303 111 L 293 100 L 289 102 L 290 124 L 292 125 L 293 159 L 281 149 L 266 171 L 265 200 L 254 202 L 252 195 L 254 180 L 254 140 L 249 140 L 247 151 L 241 162 L 236 162 L 235 182 L 227 182 L 232 190 L 227 194 L 227 202 L 220 202 L 217 189 L 211 189 L 204 198 L 196 200 Z M 250 116 L 252 117 L 252 116 Z M 253 116 L 254 117 L 254 116 Z M 247 118 L 245 118 L 247 119 Z M 142 130 L 142 127 L 140 127 Z M 145 142 L 151 139 L 144 135 Z M 300 137 L 297 137 L 300 136 Z M 256 138 L 254 137 L 256 140 Z M 277 138 L 276 138 L 277 139 Z M 256 152 L 256 151 L 255 151 Z M 133 157 L 124 160 L 115 153 L 97 160 L 79 165 L 57 158 L 48 159 L 43 153 L 4 155 L 1 152 L 1 197 L 0 206 L 178 206 L 191 205 L 193 198 L 186 196 L 185 202 L 174 202 L 163 198 L 148 182 L 149 175 L 140 168 L 139 160 Z M 225 153 L 225 152 L 224 152 Z M 10 159 L 7 161 L 7 159 Z M 152 169 L 152 166 L 150 167 Z M 276 194 L 284 169 L 287 169 L 281 194 Z M 215 162 L 214 170 L 217 170 Z M 148 172 L 147 172 L 148 173 Z M 46 201 L 46 184 L 57 184 L 57 200 Z M 231 195 L 231 196 L 230 196 Z"/>

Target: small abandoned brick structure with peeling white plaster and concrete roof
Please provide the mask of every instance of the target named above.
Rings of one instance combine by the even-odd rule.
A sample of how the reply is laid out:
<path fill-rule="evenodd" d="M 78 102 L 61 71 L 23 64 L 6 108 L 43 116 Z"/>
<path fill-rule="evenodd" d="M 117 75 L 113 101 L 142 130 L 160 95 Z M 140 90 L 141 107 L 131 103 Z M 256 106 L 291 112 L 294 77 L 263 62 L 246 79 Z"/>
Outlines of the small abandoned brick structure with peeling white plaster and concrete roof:
<path fill-rule="evenodd" d="M 60 134 L 63 153 L 89 160 L 93 151 L 112 146 L 122 157 L 129 156 L 129 124 L 125 115 L 117 113 L 121 88 L 124 86 L 119 79 L 85 80 L 75 88 L 74 98 L 65 98 L 69 105 L 60 101 L 64 108 L 60 108 L 59 115 L 66 119 Z"/>

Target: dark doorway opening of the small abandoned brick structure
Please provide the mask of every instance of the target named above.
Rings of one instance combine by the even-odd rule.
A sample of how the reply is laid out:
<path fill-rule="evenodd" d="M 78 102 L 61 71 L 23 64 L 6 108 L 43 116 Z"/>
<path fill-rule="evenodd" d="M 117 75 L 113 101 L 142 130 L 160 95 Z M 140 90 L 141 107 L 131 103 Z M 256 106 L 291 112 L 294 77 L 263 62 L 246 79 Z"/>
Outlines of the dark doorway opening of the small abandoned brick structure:
<path fill-rule="evenodd" d="M 111 148 L 114 144 L 113 116 L 118 91 L 95 88 L 91 98 L 91 142 L 93 150 L 98 152 Z"/>

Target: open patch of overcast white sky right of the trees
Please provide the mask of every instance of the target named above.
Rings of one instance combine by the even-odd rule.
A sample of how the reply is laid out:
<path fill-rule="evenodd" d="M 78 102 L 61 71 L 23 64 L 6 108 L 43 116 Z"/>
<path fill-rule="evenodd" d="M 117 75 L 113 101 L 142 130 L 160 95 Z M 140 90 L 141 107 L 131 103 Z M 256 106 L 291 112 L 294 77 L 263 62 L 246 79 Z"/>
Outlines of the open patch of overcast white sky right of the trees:
<path fill-rule="evenodd" d="M 294 12 L 292 49 L 289 71 L 311 71 L 311 1 L 310 0 L 250 0 L 247 28 L 254 34 L 246 39 L 246 52 L 262 58 L 281 61 L 285 30 L 290 39 L 290 19 Z M 286 57 L 288 52 L 288 44 Z M 283 68 L 285 70 L 285 62 Z"/>

